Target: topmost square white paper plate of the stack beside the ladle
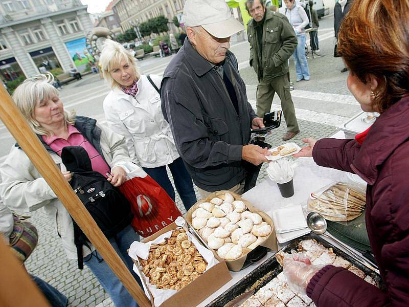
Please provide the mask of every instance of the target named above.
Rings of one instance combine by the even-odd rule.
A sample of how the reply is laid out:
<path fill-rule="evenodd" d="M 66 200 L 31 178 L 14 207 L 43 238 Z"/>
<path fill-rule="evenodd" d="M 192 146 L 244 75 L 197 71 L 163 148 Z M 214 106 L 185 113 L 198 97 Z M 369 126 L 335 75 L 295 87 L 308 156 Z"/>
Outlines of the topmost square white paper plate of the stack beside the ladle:
<path fill-rule="evenodd" d="M 272 212 L 276 232 L 288 232 L 308 227 L 301 205 L 280 208 Z"/>

